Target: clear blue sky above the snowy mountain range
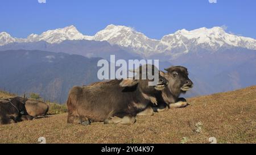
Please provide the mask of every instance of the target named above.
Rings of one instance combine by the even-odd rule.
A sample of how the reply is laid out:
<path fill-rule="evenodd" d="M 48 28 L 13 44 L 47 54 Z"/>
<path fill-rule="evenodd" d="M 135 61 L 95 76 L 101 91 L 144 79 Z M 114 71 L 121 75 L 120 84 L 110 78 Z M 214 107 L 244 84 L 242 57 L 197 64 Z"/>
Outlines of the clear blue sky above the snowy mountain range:
<path fill-rule="evenodd" d="M 185 28 L 226 26 L 227 32 L 256 39 L 254 0 L 1 0 L 0 32 L 15 37 L 75 25 L 94 35 L 108 24 L 130 26 L 148 37 Z"/>

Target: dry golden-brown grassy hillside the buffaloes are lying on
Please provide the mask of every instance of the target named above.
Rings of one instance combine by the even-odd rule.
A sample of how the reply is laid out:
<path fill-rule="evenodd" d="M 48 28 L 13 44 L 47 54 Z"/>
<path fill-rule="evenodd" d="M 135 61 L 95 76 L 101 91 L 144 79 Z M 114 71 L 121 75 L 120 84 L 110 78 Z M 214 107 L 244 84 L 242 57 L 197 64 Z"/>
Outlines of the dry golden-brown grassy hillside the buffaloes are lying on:
<path fill-rule="evenodd" d="M 256 143 L 256 86 L 189 98 L 134 125 L 67 124 L 67 114 L 0 126 L 0 143 Z"/>

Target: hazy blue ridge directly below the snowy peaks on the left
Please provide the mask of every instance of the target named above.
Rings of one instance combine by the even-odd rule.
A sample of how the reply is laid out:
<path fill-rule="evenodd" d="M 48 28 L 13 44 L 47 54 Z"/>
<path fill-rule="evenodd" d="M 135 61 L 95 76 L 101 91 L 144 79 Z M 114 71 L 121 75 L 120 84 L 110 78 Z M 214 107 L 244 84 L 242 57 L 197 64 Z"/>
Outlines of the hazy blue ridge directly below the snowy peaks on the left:
<path fill-rule="evenodd" d="M 125 51 L 118 45 L 110 45 L 107 41 L 94 40 L 64 40 L 61 43 L 49 44 L 46 41 L 32 43 L 11 43 L 0 46 L 0 51 L 6 50 L 40 50 L 49 52 L 63 52 L 85 57 L 102 57 L 109 60 L 110 55 L 115 55 L 119 59 L 139 58 L 136 53 Z"/>

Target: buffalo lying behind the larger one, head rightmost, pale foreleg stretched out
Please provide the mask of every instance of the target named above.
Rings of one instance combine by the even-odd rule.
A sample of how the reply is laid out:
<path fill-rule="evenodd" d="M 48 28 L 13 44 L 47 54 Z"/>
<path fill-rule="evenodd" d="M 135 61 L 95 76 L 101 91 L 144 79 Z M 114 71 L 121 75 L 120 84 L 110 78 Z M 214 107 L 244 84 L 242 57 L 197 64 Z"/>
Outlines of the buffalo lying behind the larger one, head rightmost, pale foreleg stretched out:
<path fill-rule="evenodd" d="M 188 70 L 183 66 L 171 66 L 164 69 L 160 75 L 167 79 L 168 86 L 158 95 L 158 105 L 152 106 L 154 111 L 165 111 L 168 108 L 179 108 L 187 106 L 187 100 L 179 98 L 180 94 L 186 93 L 193 87 L 193 82 L 188 78 Z"/>

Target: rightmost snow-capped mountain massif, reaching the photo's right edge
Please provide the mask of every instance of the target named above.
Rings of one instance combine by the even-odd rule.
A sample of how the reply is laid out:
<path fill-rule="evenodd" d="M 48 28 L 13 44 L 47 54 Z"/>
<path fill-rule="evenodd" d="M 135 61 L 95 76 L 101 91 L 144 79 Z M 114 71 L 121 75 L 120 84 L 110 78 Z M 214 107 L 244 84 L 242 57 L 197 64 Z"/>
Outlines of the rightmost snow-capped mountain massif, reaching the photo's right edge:
<path fill-rule="evenodd" d="M 256 49 L 256 40 L 226 33 L 221 27 L 203 27 L 192 31 L 183 29 L 163 36 L 156 47 L 156 51 L 180 55 L 197 47 L 217 51 L 222 47 L 230 46 Z"/>

